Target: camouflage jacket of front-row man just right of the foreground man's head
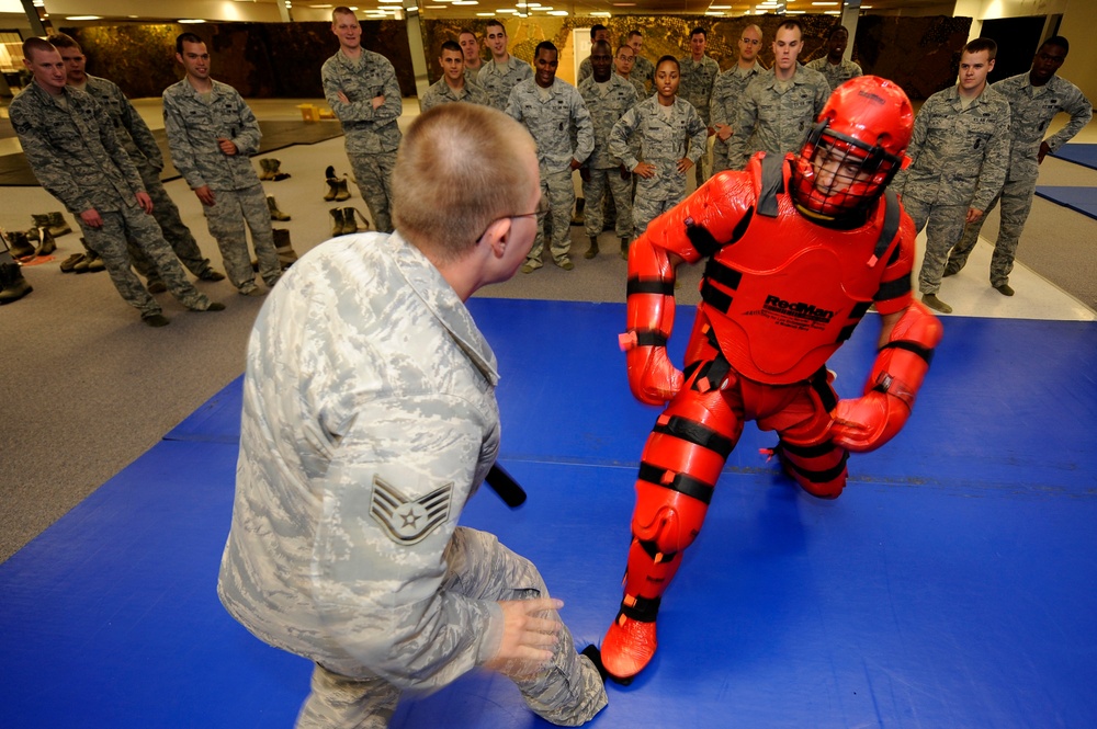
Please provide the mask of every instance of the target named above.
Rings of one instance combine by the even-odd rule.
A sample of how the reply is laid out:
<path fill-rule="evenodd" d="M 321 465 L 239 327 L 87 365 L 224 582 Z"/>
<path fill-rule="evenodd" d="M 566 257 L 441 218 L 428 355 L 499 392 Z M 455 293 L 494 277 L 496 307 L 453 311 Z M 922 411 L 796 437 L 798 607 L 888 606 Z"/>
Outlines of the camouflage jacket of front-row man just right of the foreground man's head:
<path fill-rule="evenodd" d="M 510 92 L 507 113 L 524 124 L 538 143 L 538 163 L 542 170 L 563 172 L 573 159 L 584 162 L 595 149 L 590 112 L 578 90 L 566 81 L 555 79 L 544 101 L 534 79 L 522 81 Z"/>

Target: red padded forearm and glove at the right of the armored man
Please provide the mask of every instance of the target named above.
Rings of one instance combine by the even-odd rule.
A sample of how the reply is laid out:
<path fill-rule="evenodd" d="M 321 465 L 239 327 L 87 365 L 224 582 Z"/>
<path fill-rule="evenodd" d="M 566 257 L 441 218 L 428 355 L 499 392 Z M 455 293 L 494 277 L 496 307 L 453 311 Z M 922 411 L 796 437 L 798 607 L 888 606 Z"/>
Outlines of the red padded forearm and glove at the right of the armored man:
<path fill-rule="evenodd" d="M 877 355 L 864 395 L 839 400 L 832 413 L 830 436 L 837 445 L 874 451 L 895 437 L 911 417 L 941 331 L 941 322 L 921 301 L 911 304 Z"/>

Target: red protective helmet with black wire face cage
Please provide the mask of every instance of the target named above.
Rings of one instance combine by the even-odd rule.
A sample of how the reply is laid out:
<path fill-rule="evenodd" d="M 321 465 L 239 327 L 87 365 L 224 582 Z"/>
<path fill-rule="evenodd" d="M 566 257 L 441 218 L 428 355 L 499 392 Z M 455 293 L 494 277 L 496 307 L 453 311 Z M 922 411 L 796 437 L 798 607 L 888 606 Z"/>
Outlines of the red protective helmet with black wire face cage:
<path fill-rule="evenodd" d="M 909 164 L 904 152 L 913 127 L 914 110 L 896 83 L 879 76 L 846 81 L 793 162 L 793 200 L 828 217 L 867 209 Z"/>

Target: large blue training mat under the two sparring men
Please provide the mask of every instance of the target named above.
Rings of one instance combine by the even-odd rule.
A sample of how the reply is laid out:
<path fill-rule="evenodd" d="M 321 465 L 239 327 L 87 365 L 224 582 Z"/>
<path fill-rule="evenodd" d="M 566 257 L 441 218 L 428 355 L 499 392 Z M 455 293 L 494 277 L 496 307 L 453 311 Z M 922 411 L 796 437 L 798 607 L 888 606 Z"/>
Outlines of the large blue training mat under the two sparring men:
<path fill-rule="evenodd" d="M 658 414 L 624 384 L 624 307 L 471 308 L 504 377 L 501 460 L 529 500 L 482 489 L 462 521 L 530 557 L 578 646 L 598 642 Z M 908 426 L 850 457 L 841 498 L 800 491 L 747 426 L 664 599 L 659 652 L 589 726 L 1097 726 L 1097 324 L 945 326 Z M 877 331 L 832 362 L 841 395 L 860 391 Z M 293 725 L 310 665 L 216 596 L 239 402 L 236 380 L 0 565 L 4 727 Z M 550 725 L 473 672 L 406 696 L 392 727 Z"/>

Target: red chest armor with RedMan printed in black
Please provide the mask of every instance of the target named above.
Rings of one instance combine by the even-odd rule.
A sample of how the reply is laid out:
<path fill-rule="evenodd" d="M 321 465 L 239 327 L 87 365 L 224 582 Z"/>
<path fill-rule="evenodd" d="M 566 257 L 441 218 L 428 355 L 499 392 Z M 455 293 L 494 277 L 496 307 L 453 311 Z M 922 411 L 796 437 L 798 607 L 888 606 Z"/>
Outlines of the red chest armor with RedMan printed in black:
<path fill-rule="evenodd" d="M 748 166 L 758 202 L 743 235 L 709 260 L 700 307 L 732 366 L 773 385 L 807 379 L 849 339 L 880 289 L 900 217 L 889 195 L 860 228 L 812 223 L 784 192 L 781 161 Z"/>

